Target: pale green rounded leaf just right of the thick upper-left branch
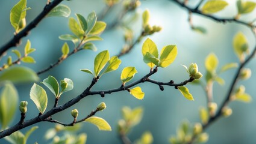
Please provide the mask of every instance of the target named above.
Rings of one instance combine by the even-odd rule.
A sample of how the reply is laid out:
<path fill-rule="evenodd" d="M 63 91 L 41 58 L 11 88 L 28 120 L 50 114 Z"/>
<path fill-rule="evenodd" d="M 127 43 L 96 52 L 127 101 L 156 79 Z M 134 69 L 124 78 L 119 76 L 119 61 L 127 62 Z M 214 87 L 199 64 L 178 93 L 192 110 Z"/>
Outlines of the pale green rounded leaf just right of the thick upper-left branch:
<path fill-rule="evenodd" d="M 69 7 L 67 7 L 67 5 L 57 5 L 56 7 L 54 7 L 48 14 L 48 17 L 52 17 L 52 16 L 60 16 L 60 17 L 69 17 L 71 13 L 71 10 Z"/>

